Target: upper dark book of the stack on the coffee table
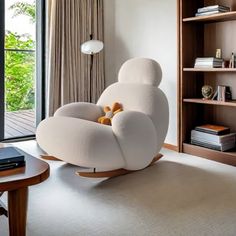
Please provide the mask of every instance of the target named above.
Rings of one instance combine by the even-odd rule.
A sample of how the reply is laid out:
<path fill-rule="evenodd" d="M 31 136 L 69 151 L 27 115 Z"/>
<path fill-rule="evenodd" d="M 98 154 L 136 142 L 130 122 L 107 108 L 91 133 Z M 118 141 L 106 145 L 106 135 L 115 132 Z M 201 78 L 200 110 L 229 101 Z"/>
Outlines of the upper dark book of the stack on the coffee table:
<path fill-rule="evenodd" d="M 0 166 L 10 163 L 24 163 L 25 156 L 14 147 L 0 148 Z"/>

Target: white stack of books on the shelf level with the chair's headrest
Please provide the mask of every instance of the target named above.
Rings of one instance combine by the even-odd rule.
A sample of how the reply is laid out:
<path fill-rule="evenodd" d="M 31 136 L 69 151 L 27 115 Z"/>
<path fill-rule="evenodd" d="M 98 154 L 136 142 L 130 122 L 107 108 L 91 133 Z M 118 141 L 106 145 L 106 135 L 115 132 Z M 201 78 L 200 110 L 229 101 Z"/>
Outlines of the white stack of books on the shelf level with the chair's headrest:
<path fill-rule="evenodd" d="M 215 57 L 197 57 L 195 68 L 222 68 L 223 59 Z"/>

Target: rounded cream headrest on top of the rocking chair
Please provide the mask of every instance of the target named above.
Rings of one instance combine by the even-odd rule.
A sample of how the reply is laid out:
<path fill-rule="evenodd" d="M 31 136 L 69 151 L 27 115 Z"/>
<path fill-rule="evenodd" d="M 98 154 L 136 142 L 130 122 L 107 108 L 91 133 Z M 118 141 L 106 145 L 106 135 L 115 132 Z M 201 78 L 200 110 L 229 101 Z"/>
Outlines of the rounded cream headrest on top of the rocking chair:
<path fill-rule="evenodd" d="M 149 84 L 161 83 L 162 71 L 158 62 L 148 58 L 133 58 L 120 68 L 118 81 L 121 83 Z"/>

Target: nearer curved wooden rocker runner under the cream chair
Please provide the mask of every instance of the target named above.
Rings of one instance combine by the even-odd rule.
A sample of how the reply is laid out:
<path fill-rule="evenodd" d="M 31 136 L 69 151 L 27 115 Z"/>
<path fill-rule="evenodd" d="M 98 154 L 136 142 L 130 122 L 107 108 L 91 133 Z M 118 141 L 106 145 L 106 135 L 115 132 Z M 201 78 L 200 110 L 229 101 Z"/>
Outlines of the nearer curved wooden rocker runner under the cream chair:
<path fill-rule="evenodd" d="M 158 161 L 159 159 L 161 159 L 163 157 L 162 154 L 158 154 L 156 157 L 153 158 L 152 162 L 147 166 L 151 166 L 153 165 L 156 161 Z M 144 169 L 146 169 L 147 167 L 145 167 Z M 117 170 L 111 170 L 111 171 L 102 171 L 102 172 L 76 172 L 77 175 L 82 176 L 82 177 L 87 177 L 87 178 L 112 178 L 112 177 L 117 177 L 120 175 L 126 175 L 132 172 L 136 172 L 139 170 L 125 170 L 125 169 L 117 169 Z"/>

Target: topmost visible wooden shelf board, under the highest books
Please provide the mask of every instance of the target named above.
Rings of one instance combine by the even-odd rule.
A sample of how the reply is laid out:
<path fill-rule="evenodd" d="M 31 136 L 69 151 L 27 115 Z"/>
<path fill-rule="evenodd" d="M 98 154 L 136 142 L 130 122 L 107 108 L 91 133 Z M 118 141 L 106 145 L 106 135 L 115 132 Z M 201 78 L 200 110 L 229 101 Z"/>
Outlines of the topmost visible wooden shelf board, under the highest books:
<path fill-rule="evenodd" d="M 226 13 L 218 13 L 209 16 L 194 16 L 184 18 L 183 22 L 221 22 L 221 21 L 232 21 L 236 20 L 236 11 L 226 12 Z"/>

